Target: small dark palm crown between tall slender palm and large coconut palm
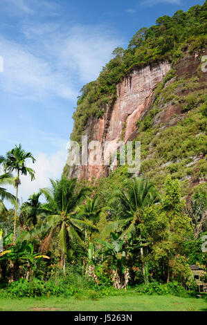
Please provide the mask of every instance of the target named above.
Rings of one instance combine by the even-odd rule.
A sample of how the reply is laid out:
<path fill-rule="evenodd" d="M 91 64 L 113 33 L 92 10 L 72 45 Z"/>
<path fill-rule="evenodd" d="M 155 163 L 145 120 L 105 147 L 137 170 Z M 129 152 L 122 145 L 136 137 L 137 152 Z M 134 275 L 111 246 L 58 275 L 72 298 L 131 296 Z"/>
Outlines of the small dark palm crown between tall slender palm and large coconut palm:
<path fill-rule="evenodd" d="M 23 227 L 25 221 L 26 225 L 37 225 L 37 216 L 44 212 L 42 209 L 42 204 L 39 202 L 39 196 L 42 192 L 34 193 L 30 195 L 28 201 L 21 205 L 21 214 L 19 216 L 19 223 Z"/>

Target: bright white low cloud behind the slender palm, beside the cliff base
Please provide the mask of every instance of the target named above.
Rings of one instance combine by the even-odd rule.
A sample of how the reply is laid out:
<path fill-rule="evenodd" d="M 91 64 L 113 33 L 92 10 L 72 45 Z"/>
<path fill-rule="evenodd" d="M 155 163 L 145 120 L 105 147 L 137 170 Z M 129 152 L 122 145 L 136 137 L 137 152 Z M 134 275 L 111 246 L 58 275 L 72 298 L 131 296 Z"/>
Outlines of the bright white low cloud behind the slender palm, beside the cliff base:
<path fill-rule="evenodd" d="M 60 138 L 52 132 L 42 131 L 41 129 L 31 129 L 31 131 L 35 132 L 36 138 L 33 140 L 37 143 L 33 143 L 33 140 L 29 140 L 26 144 L 27 147 L 30 147 L 31 144 L 33 147 L 39 148 L 40 142 L 44 142 L 48 147 L 51 148 L 51 153 L 46 154 L 43 150 L 39 149 L 36 152 L 33 151 L 33 156 L 36 161 L 33 164 L 32 160 L 28 159 L 26 161 L 26 166 L 33 168 L 35 170 L 35 180 L 31 181 L 30 176 L 20 176 L 21 185 L 19 186 L 19 201 L 27 201 L 28 197 L 34 192 L 38 192 L 39 188 L 49 187 L 51 185 L 49 178 L 59 179 L 64 165 L 66 164 L 66 159 L 68 156 L 68 143 L 69 140 L 66 138 Z M 2 133 L 0 131 L 0 138 L 4 140 L 2 137 Z M 16 140 L 11 140 L 12 146 L 15 146 Z M 26 149 L 29 151 L 29 149 Z M 12 173 L 15 176 L 15 172 Z M 12 194 L 15 193 L 14 187 L 8 185 L 7 189 Z M 11 207 L 10 203 L 6 202 L 6 206 Z"/>

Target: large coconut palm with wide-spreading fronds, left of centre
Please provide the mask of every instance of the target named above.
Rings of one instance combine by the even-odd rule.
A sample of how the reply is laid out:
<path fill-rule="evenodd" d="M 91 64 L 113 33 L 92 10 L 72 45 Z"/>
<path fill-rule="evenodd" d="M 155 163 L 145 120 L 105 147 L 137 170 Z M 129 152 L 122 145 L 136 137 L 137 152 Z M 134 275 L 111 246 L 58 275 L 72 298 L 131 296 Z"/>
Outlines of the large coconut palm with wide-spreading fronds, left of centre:
<path fill-rule="evenodd" d="M 48 213 L 46 221 L 33 228 L 24 238 L 33 239 L 40 234 L 46 234 L 40 248 L 44 251 L 48 249 L 51 239 L 56 234 L 65 273 L 66 254 L 72 248 L 73 241 L 84 247 L 81 239 L 82 232 L 85 229 L 95 230 L 96 227 L 89 223 L 89 221 L 78 219 L 78 215 L 75 212 L 75 208 L 84 199 L 87 189 L 81 189 L 77 193 L 75 189 L 76 179 L 67 180 L 65 176 L 56 181 L 51 179 L 51 185 L 51 189 L 41 189 L 47 201 L 43 206 L 44 210 Z"/>

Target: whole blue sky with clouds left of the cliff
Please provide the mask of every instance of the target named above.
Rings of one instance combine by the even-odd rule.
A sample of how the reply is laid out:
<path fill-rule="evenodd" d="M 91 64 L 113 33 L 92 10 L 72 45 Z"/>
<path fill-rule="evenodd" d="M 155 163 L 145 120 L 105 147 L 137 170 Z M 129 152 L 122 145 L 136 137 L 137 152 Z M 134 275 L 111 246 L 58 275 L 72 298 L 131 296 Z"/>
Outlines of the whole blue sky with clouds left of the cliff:
<path fill-rule="evenodd" d="M 26 201 L 66 163 L 80 89 L 141 27 L 204 0 L 0 0 L 0 155 L 21 143 L 36 158 Z M 3 66 L 3 69 L 2 69 Z M 3 71 L 2 71 L 3 70 Z M 10 189 L 10 192 L 15 192 Z"/>

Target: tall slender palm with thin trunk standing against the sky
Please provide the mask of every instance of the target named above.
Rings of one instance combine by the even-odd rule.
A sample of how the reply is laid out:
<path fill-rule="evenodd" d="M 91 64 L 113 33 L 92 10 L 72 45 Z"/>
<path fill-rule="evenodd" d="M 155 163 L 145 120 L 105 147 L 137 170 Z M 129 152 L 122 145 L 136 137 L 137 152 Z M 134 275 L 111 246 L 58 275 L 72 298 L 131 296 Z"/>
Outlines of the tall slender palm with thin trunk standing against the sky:
<path fill-rule="evenodd" d="M 16 224 L 17 224 L 17 203 L 18 203 L 18 188 L 21 184 L 19 175 L 29 174 L 31 180 L 35 179 L 35 171 L 32 168 L 26 167 L 26 159 L 31 158 L 33 163 L 35 163 L 35 158 L 30 152 L 24 151 L 21 148 L 21 145 L 6 153 L 6 158 L 3 160 L 4 171 L 17 172 L 17 177 L 15 178 L 15 187 L 16 187 L 16 201 L 15 201 L 15 221 L 14 221 L 14 236 L 13 242 L 15 243 L 16 239 Z"/>

